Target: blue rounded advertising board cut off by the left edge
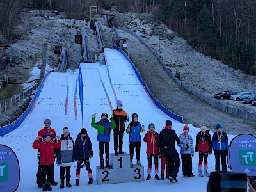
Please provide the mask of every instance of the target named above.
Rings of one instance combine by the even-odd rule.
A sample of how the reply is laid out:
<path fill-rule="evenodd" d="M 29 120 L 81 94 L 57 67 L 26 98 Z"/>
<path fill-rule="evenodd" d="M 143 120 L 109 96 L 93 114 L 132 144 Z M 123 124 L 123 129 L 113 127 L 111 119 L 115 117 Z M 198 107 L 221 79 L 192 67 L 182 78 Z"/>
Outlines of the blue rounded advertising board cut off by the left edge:
<path fill-rule="evenodd" d="M 13 150 L 0 145 L 0 191 L 16 191 L 20 182 L 20 166 Z"/>

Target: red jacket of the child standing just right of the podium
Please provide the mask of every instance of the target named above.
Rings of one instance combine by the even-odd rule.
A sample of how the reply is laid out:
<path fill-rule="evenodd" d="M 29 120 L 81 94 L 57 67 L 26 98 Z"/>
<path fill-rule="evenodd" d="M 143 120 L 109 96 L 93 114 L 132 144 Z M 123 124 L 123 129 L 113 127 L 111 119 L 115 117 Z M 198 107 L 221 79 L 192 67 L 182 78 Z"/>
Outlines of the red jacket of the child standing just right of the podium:
<path fill-rule="evenodd" d="M 143 141 L 147 143 L 147 154 L 161 154 L 160 148 L 158 147 L 158 138 L 159 134 L 156 131 L 148 131 L 145 134 Z"/>

